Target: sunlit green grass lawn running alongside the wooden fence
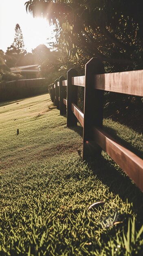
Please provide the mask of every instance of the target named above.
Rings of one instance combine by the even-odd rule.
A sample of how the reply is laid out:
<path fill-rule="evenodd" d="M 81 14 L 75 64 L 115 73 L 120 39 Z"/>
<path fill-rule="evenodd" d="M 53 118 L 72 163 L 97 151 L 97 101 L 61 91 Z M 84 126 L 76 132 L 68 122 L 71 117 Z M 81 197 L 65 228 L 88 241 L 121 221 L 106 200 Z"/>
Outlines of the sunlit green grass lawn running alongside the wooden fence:
<path fill-rule="evenodd" d="M 141 134 L 104 127 L 143 157 Z M 143 256 L 143 193 L 105 152 L 82 162 L 81 134 L 47 94 L 0 104 L 0 256 Z"/>

